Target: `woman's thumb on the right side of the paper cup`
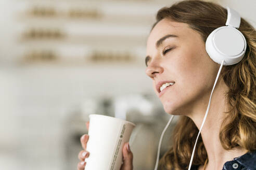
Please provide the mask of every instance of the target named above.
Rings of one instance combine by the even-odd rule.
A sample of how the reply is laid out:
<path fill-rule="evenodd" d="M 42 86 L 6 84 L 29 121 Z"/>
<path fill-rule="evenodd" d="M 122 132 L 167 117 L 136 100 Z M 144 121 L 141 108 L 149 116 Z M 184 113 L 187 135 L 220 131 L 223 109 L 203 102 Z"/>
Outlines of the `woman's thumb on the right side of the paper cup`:
<path fill-rule="evenodd" d="M 133 169 L 133 153 L 130 149 L 129 143 L 125 143 L 123 146 L 123 164 L 120 170 L 132 170 Z"/>

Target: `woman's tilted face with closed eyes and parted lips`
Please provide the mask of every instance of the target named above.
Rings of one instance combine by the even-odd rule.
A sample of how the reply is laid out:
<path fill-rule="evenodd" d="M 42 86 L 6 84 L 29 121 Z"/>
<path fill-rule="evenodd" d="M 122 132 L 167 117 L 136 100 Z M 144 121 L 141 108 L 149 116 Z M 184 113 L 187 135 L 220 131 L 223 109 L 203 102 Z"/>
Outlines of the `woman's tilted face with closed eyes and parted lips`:
<path fill-rule="evenodd" d="M 146 74 L 168 114 L 188 115 L 200 103 L 208 104 L 219 64 L 188 24 L 161 20 L 148 37 L 146 61 Z M 174 84 L 160 92 L 163 82 Z"/>

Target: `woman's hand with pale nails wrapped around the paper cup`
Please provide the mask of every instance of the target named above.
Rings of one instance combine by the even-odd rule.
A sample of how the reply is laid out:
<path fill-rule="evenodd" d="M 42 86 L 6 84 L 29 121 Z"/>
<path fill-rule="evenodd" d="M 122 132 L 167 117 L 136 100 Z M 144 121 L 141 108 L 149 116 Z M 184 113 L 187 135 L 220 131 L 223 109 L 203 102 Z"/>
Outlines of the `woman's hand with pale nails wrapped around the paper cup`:
<path fill-rule="evenodd" d="M 89 130 L 89 122 L 86 122 L 86 127 Z M 86 162 L 84 162 L 84 159 L 89 157 L 89 152 L 86 151 L 86 145 L 87 145 L 88 139 L 89 139 L 89 136 L 87 134 L 84 134 L 80 138 L 81 145 L 84 150 L 81 150 L 78 154 L 78 158 L 81 161 L 78 163 L 78 170 L 84 170 L 84 167 L 86 165 Z M 131 152 L 129 143 L 124 144 L 122 153 L 123 153 L 123 164 L 120 170 L 133 170 L 133 153 Z"/>

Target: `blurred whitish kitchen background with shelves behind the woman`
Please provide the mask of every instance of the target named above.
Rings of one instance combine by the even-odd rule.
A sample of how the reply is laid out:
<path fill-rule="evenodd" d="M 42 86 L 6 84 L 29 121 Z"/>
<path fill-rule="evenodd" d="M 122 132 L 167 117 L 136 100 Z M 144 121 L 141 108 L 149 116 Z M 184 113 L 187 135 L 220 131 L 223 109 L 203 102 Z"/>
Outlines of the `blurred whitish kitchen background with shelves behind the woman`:
<path fill-rule="evenodd" d="M 153 169 L 169 115 L 145 74 L 146 40 L 174 2 L 0 0 L 0 169 L 76 169 L 88 115 L 114 116 L 120 102 L 137 125 L 134 168 Z M 255 27 L 255 0 L 212 2 Z"/>

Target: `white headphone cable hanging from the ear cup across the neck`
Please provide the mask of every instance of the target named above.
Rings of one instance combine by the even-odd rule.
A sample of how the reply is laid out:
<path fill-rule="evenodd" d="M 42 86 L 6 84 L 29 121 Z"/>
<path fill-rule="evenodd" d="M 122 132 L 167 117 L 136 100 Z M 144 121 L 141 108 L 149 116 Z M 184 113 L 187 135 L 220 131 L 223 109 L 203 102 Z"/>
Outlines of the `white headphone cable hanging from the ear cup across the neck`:
<path fill-rule="evenodd" d="M 200 130 L 199 130 L 198 135 L 197 135 L 197 139 L 198 139 L 198 137 L 199 137 L 199 135 L 200 135 L 200 133 L 201 133 L 202 127 L 203 127 L 203 125 L 204 125 L 204 122 L 206 122 L 206 117 L 207 117 L 207 115 L 208 115 L 208 111 L 209 111 L 210 104 L 211 104 L 212 93 L 213 93 L 213 90 L 214 90 L 215 85 L 216 85 L 216 83 L 217 83 L 217 80 L 219 79 L 219 76 L 220 76 L 220 73 L 221 73 L 221 69 L 222 69 L 223 64 L 224 64 L 224 60 L 222 60 L 221 66 L 220 66 L 220 68 L 219 68 L 219 72 L 218 72 L 218 74 L 217 74 L 217 76 L 216 76 L 216 79 L 215 79 L 215 82 L 214 82 L 214 85 L 213 85 L 213 88 L 212 88 L 210 100 L 209 100 L 209 103 L 208 103 L 208 107 L 207 107 L 207 110 L 206 110 L 206 114 L 204 115 L 203 122 L 202 122 L 202 124 L 201 124 Z M 193 158 L 194 158 L 194 154 L 195 154 L 195 149 L 196 149 L 196 145 L 197 145 L 197 139 L 196 139 L 196 143 L 195 143 L 195 145 L 194 145 L 193 152 L 192 152 L 192 154 L 191 154 L 191 158 L 190 158 L 188 170 L 190 170 L 191 165 L 192 165 L 192 162 L 193 162 Z"/>

